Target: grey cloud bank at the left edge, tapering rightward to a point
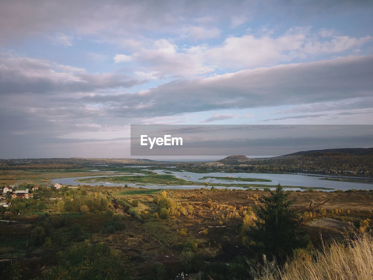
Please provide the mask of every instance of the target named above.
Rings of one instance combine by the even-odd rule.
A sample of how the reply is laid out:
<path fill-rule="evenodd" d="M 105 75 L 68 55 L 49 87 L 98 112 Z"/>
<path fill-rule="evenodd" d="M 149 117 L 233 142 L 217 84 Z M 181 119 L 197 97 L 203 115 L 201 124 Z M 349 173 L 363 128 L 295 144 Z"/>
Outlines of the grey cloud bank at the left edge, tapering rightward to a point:
<path fill-rule="evenodd" d="M 0 94 L 74 93 L 129 88 L 145 81 L 121 74 L 88 74 L 85 69 L 28 57 L 0 57 Z"/>

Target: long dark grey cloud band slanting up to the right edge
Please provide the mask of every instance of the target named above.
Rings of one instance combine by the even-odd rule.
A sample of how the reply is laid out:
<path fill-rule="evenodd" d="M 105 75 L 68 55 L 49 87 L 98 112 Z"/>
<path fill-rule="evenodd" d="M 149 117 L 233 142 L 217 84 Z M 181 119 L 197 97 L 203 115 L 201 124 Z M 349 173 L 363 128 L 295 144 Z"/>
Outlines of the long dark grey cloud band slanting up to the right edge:
<path fill-rule="evenodd" d="M 257 108 L 370 97 L 373 56 L 278 65 L 232 74 L 177 80 L 136 94 L 85 96 L 113 105 L 109 114 L 143 117 L 219 109 Z"/>

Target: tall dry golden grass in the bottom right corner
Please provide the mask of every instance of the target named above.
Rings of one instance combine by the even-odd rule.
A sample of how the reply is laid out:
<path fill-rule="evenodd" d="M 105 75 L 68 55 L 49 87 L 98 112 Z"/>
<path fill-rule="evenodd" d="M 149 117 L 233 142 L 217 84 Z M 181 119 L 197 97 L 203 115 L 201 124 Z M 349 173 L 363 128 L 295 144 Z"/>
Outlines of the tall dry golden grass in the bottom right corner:
<path fill-rule="evenodd" d="M 363 233 L 344 243 L 334 240 L 313 256 L 298 251 L 283 268 L 264 256 L 263 265 L 251 267 L 251 273 L 255 280 L 372 280 L 373 238 Z"/>

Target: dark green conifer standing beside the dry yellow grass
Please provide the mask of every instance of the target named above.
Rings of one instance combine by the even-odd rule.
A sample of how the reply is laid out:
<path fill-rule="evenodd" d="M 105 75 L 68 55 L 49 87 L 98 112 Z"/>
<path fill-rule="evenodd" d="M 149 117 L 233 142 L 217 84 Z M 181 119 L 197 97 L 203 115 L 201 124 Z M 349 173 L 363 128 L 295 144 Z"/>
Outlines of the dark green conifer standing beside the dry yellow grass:
<path fill-rule="evenodd" d="M 257 219 L 250 227 L 253 252 L 266 254 L 269 258 L 282 258 L 303 245 L 298 238 L 301 218 L 290 209 L 295 199 L 288 200 L 289 194 L 278 184 L 275 192 L 270 191 L 270 196 L 259 199 L 261 205 L 256 207 Z"/>

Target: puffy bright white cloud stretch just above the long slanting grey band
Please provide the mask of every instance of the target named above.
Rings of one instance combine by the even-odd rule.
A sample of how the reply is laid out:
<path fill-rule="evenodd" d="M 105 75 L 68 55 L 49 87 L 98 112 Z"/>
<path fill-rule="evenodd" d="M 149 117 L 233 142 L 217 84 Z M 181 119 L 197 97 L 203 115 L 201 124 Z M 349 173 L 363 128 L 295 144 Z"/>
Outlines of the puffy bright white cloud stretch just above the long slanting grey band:
<path fill-rule="evenodd" d="M 162 77 L 192 77 L 212 74 L 217 69 L 237 71 L 347 50 L 352 53 L 372 40 L 370 36 L 332 35 L 324 38 L 319 33 L 311 33 L 310 27 L 291 28 L 280 35 L 273 35 L 273 30 L 262 28 L 255 34 L 227 37 L 216 46 L 203 43 L 178 47 L 170 40 L 159 39 L 154 41 L 153 46 L 138 47 L 132 57 L 138 63 L 137 71 L 159 72 Z"/>

